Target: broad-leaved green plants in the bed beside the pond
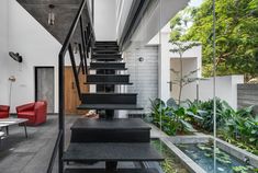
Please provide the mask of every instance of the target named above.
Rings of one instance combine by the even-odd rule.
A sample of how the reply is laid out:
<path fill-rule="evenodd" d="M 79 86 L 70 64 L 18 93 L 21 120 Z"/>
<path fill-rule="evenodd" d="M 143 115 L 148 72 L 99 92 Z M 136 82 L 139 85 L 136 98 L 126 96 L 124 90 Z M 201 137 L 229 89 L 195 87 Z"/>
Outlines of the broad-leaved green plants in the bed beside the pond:
<path fill-rule="evenodd" d="M 225 101 L 216 101 L 217 136 L 224 140 L 258 154 L 258 115 L 253 106 L 233 109 Z M 205 102 L 186 101 L 178 105 L 173 99 L 167 103 L 152 101 L 152 123 L 161 127 L 169 136 L 197 131 L 213 131 L 213 100 Z"/>

